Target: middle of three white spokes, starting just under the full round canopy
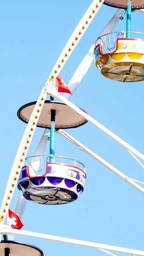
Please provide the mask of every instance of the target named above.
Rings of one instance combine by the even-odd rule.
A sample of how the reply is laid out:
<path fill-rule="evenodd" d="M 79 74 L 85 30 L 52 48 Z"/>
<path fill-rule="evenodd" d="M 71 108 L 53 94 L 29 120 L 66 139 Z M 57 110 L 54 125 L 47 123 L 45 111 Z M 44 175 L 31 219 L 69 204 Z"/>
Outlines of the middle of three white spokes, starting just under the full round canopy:
<path fill-rule="evenodd" d="M 92 150 L 90 150 L 89 148 L 87 148 L 85 145 L 83 145 L 81 142 L 77 141 L 76 139 L 74 139 L 74 137 L 72 137 L 70 134 L 66 133 L 65 131 L 63 131 L 62 129 L 60 129 L 59 131 L 57 131 L 57 133 L 61 134 L 63 137 L 65 137 L 66 139 L 68 139 L 70 142 L 72 142 L 74 145 L 76 145 L 77 147 L 81 148 L 81 150 L 83 150 L 84 152 L 86 152 L 88 155 L 92 156 L 94 159 L 96 159 L 96 161 L 98 161 L 99 163 L 103 164 L 103 166 L 106 166 L 109 170 L 111 170 L 114 174 L 116 174 L 118 177 L 120 177 L 122 180 L 124 180 L 126 183 L 128 183 L 129 185 L 131 185 L 133 188 L 137 189 L 137 191 L 141 192 L 142 194 L 144 194 L 144 188 L 142 186 L 140 186 L 139 181 L 134 180 L 132 178 L 127 177 L 125 174 L 123 174 L 123 172 L 121 172 L 120 170 L 118 170 L 117 168 L 115 168 L 114 166 L 112 166 L 112 164 L 109 164 L 106 160 L 104 160 L 103 158 L 101 158 L 100 156 L 96 155 L 96 153 L 94 153 Z"/>

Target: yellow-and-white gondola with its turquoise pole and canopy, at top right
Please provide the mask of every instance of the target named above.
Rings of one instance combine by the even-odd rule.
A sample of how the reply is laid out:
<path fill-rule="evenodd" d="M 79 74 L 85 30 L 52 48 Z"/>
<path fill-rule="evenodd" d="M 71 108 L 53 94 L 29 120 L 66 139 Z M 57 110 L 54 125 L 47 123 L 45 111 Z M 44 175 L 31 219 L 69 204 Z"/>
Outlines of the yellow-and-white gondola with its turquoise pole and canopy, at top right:
<path fill-rule="evenodd" d="M 105 1 L 127 9 L 126 32 L 103 34 L 96 40 L 95 64 L 106 78 L 121 82 L 144 80 L 144 34 L 131 31 L 131 12 L 144 8 L 144 1 Z"/>

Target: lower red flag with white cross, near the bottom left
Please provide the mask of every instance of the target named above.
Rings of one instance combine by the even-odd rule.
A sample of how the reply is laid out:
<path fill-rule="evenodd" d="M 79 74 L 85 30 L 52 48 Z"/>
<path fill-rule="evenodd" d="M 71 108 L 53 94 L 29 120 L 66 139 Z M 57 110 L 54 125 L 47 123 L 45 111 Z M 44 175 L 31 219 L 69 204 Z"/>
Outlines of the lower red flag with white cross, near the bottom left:
<path fill-rule="evenodd" d="M 18 215 L 9 209 L 9 226 L 12 227 L 12 229 L 21 229 L 23 225 L 24 224 L 21 222 L 21 219 L 18 217 Z"/>

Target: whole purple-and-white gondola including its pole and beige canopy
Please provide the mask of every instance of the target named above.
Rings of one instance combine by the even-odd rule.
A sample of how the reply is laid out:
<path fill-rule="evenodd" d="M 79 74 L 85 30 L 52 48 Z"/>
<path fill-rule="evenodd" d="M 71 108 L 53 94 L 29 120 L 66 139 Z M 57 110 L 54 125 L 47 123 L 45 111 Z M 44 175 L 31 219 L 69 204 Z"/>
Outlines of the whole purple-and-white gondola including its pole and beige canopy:
<path fill-rule="evenodd" d="M 18 110 L 18 117 L 28 123 L 36 102 L 25 104 Z M 59 101 L 46 100 L 41 111 L 37 126 L 51 129 L 50 153 L 47 156 L 32 156 L 26 158 L 26 164 L 21 170 L 18 189 L 23 192 L 25 199 L 41 204 L 62 204 L 73 202 L 84 190 L 85 166 L 68 157 L 54 155 L 55 129 L 77 128 L 87 123 L 73 109 Z M 60 159 L 59 163 L 56 159 Z M 72 162 L 72 163 L 69 163 Z M 36 166 L 45 166 L 40 171 Z M 80 164 L 81 167 L 77 166 Z"/>

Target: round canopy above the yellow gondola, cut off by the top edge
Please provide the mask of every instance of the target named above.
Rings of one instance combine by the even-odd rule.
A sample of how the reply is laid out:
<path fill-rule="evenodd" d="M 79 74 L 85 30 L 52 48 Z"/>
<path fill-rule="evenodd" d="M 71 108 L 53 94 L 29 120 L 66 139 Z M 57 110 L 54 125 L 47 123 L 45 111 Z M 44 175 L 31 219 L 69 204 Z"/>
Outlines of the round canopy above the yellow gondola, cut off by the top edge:
<path fill-rule="evenodd" d="M 104 4 L 110 5 L 112 7 L 127 8 L 127 0 L 105 0 Z M 144 8 L 144 0 L 132 0 L 132 9 L 143 9 Z"/>

